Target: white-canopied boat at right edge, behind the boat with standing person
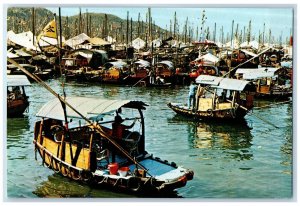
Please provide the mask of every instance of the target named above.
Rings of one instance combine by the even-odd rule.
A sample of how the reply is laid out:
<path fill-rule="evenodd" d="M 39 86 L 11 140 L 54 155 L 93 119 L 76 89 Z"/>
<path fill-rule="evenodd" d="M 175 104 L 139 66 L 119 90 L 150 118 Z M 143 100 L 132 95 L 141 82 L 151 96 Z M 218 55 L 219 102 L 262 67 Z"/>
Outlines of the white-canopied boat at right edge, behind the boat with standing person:
<path fill-rule="evenodd" d="M 256 98 L 288 99 L 293 94 L 291 79 L 285 68 L 238 69 L 236 74 L 255 83 Z"/>

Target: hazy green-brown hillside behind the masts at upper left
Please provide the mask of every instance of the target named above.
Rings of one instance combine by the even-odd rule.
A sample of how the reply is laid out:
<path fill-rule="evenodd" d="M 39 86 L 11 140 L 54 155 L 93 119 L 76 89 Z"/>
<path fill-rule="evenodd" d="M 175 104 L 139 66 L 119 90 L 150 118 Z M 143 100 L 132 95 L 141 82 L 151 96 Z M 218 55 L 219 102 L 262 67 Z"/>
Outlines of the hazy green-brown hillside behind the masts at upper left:
<path fill-rule="evenodd" d="M 49 21 L 54 18 L 54 14 L 45 8 L 35 8 L 35 33 L 39 34 Z M 130 14 L 129 14 L 130 15 Z M 118 42 L 126 42 L 127 20 L 118 16 L 103 13 L 83 13 L 81 14 L 81 27 L 79 14 L 70 17 L 62 17 L 62 34 L 66 39 L 76 36 L 80 33 L 86 33 L 90 37 L 102 37 L 109 35 L 117 39 Z M 10 7 L 7 11 L 7 31 L 12 30 L 15 33 L 33 31 L 32 26 L 32 8 L 31 7 Z M 58 19 L 58 17 L 57 17 Z M 107 22 L 107 23 L 105 23 Z M 146 39 L 148 25 L 145 22 L 132 22 L 132 32 L 130 30 L 131 22 L 128 26 L 128 41 L 140 37 Z M 131 37 L 132 33 L 132 37 Z M 138 35 L 138 33 L 140 35 Z M 158 26 L 152 26 L 153 39 L 165 38 L 169 34 Z"/>

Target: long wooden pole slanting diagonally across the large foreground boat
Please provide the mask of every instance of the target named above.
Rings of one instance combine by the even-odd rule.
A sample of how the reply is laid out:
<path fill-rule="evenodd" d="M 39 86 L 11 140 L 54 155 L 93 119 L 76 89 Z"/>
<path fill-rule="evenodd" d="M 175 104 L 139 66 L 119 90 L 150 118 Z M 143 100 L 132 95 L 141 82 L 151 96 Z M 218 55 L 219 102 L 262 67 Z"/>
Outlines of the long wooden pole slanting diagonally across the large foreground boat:
<path fill-rule="evenodd" d="M 123 149 L 117 142 L 115 142 L 111 137 L 109 136 L 105 131 L 102 130 L 101 126 L 98 125 L 98 123 L 93 123 L 91 120 L 89 120 L 88 118 L 86 118 L 84 115 L 82 115 L 78 110 L 76 110 L 72 105 L 70 105 L 67 101 L 65 101 L 64 98 L 62 98 L 59 94 L 57 94 L 53 89 L 51 89 L 51 87 L 49 87 L 45 82 L 43 82 L 38 76 L 36 76 L 35 74 L 31 74 L 30 72 L 28 72 L 26 69 L 24 69 L 21 65 L 19 65 L 17 62 L 15 62 L 14 60 L 7 58 L 7 61 L 9 61 L 10 63 L 12 63 L 13 65 L 15 65 L 16 67 L 18 67 L 21 71 L 23 71 L 25 74 L 27 74 L 28 76 L 30 76 L 31 78 L 33 78 L 35 81 L 37 81 L 38 83 L 40 83 L 43 87 L 45 87 L 51 94 L 53 94 L 55 97 L 57 97 L 61 102 L 65 103 L 65 105 L 67 105 L 71 110 L 73 110 L 75 113 L 77 113 L 82 119 L 84 119 L 86 122 L 88 122 L 90 125 L 92 125 L 98 132 L 99 134 L 101 134 L 103 137 L 105 137 L 108 141 L 110 141 L 117 149 L 119 149 L 128 159 L 130 159 L 134 164 L 138 165 L 140 168 L 142 168 L 143 170 L 145 170 L 148 174 L 148 170 L 141 165 L 139 162 L 136 161 L 135 158 L 131 157 L 131 155 L 125 150 Z M 151 174 L 149 174 L 150 176 L 152 176 Z"/>

